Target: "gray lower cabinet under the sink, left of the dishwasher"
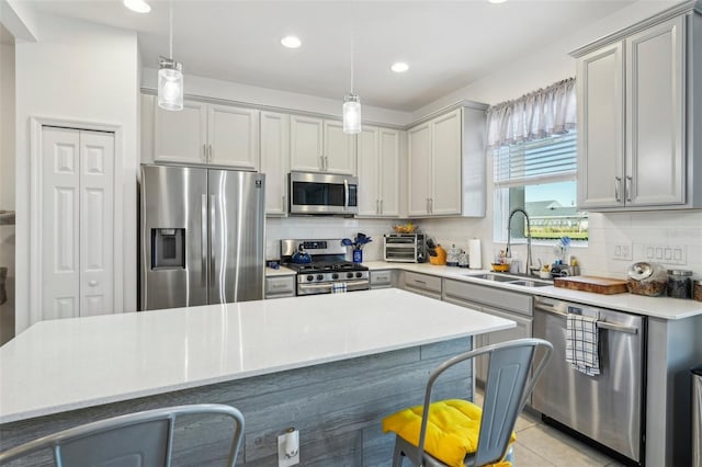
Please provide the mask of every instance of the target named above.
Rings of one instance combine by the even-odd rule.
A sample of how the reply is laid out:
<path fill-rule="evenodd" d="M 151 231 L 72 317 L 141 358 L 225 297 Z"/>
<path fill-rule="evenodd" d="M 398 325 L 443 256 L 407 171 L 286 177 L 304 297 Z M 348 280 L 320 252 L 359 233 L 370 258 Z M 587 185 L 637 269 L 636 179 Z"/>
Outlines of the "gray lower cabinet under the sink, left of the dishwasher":
<path fill-rule="evenodd" d="M 444 301 L 517 322 L 516 328 L 477 335 L 473 341 L 476 349 L 532 337 L 533 297 L 531 295 L 445 280 L 442 296 Z M 487 379 L 486 358 L 476 361 L 475 378 L 478 384 L 485 384 Z"/>

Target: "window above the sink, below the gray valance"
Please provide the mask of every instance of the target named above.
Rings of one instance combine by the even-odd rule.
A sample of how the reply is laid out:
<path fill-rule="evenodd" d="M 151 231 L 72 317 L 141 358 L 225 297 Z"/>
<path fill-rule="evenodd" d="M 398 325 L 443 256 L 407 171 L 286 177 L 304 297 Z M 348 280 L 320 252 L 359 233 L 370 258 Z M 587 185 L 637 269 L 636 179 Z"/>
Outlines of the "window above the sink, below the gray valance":
<path fill-rule="evenodd" d="M 576 207 L 576 132 L 500 147 L 494 160 L 496 241 L 507 241 L 507 219 L 516 207 L 529 213 L 533 239 L 588 239 L 587 213 Z M 526 237 L 521 218 L 512 229 L 512 239 Z"/>

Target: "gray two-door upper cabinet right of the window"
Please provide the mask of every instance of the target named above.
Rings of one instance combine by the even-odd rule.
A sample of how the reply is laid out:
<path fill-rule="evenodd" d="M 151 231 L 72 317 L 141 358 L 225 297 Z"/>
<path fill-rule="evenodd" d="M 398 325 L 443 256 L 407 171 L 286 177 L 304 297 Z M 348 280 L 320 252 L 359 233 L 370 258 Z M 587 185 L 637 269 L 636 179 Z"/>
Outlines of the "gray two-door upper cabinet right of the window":
<path fill-rule="evenodd" d="M 701 24 L 686 3 L 571 54 L 580 208 L 702 207 Z"/>

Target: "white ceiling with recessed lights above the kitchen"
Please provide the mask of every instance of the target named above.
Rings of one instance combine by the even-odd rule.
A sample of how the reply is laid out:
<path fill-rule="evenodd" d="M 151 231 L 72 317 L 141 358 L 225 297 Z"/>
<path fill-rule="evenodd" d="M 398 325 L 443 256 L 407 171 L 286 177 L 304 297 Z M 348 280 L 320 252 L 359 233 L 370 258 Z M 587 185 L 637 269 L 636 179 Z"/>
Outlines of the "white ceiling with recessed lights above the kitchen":
<path fill-rule="evenodd" d="M 138 33 L 144 65 L 168 56 L 169 3 L 148 14 L 121 0 L 24 0 L 38 10 Z M 633 0 L 174 0 L 173 58 L 189 73 L 411 112 Z M 286 49 L 280 39 L 301 37 Z M 394 73 L 397 60 L 410 66 Z"/>

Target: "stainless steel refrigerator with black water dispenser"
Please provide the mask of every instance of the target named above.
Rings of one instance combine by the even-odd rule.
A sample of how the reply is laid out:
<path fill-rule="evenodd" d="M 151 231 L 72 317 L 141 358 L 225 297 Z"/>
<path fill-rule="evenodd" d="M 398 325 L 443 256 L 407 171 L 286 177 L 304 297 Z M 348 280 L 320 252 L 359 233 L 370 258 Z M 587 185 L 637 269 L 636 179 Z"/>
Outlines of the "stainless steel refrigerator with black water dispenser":
<path fill-rule="evenodd" d="M 263 298 L 264 181 L 141 166 L 140 310 Z"/>

